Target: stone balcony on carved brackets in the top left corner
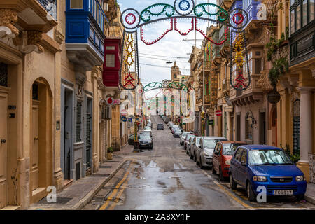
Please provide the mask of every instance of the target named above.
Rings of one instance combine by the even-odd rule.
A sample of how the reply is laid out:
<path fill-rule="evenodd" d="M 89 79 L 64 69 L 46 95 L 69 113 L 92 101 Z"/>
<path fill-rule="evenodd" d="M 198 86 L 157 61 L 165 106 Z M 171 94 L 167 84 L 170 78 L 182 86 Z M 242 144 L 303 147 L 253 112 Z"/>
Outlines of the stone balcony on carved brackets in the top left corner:
<path fill-rule="evenodd" d="M 20 52 L 43 52 L 43 34 L 57 25 L 57 0 L 0 1 L 0 41 Z M 11 41 L 10 41 L 11 40 Z"/>

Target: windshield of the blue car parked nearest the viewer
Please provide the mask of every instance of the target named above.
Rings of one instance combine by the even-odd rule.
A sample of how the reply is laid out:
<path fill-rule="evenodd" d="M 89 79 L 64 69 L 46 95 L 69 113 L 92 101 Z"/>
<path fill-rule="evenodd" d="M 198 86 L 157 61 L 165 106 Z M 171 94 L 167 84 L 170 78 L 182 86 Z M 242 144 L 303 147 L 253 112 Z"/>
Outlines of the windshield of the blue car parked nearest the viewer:
<path fill-rule="evenodd" d="M 288 155 L 278 149 L 252 150 L 248 153 L 250 165 L 292 165 Z"/>

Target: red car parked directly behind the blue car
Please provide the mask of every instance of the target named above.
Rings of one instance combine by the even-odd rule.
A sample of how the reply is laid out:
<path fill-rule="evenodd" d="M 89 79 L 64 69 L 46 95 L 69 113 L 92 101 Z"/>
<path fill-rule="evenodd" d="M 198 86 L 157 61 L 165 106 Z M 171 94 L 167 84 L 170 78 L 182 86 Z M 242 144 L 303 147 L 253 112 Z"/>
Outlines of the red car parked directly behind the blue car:
<path fill-rule="evenodd" d="M 212 174 L 219 174 L 220 181 L 229 177 L 230 161 L 237 147 L 247 145 L 244 141 L 219 141 L 214 148 Z"/>

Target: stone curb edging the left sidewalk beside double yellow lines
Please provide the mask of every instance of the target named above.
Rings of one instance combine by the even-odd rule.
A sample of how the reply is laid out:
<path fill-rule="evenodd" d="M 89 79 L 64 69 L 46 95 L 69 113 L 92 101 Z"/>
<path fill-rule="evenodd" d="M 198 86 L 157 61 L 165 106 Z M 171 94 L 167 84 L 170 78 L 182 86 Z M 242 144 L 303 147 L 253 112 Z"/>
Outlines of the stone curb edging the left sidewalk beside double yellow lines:
<path fill-rule="evenodd" d="M 123 165 L 125 165 L 127 161 L 128 160 L 123 160 L 123 162 L 120 163 L 117 169 L 115 169 L 115 171 L 112 172 L 110 176 L 104 179 L 104 181 L 102 181 L 101 183 L 97 184 L 97 186 L 95 186 L 89 193 L 87 193 L 87 195 L 85 195 L 79 202 L 73 205 L 73 207 L 71 207 L 71 210 L 83 209 L 83 207 L 85 207 L 85 205 L 87 205 L 92 200 L 92 198 L 99 192 L 99 190 L 101 190 L 101 188 L 103 188 L 103 186 L 113 178 L 113 176 L 118 172 L 121 167 L 123 167 Z"/>

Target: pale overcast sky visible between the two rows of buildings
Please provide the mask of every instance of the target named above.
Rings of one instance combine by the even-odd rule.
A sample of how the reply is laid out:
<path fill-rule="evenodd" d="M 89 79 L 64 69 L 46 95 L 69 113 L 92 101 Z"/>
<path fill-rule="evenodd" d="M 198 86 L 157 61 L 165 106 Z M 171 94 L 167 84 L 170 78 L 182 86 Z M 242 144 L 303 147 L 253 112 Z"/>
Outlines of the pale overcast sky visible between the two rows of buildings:
<path fill-rule="evenodd" d="M 139 13 L 142 10 L 151 6 L 154 3 L 169 3 L 170 5 L 174 5 L 174 0 L 118 0 L 120 5 L 120 10 L 123 11 L 127 8 L 134 8 Z M 197 0 L 197 3 L 207 3 L 207 0 Z M 216 3 L 214 0 L 209 0 L 209 3 Z M 187 20 L 181 20 L 181 27 L 190 27 L 190 22 Z M 207 25 L 204 31 L 207 31 Z M 148 37 L 150 40 L 154 40 L 158 36 L 160 36 L 165 29 L 169 27 L 169 22 L 160 22 L 154 24 L 152 26 L 144 27 L 144 36 Z M 140 40 L 139 36 L 139 63 L 140 63 L 140 76 L 141 82 L 144 85 L 147 85 L 151 82 L 162 82 L 165 79 L 171 79 L 171 69 L 170 67 L 173 64 L 166 64 L 166 61 L 160 60 L 170 60 L 171 62 L 176 61 L 181 72 L 184 75 L 190 75 L 190 64 L 188 63 L 188 58 L 190 56 L 190 52 L 192 50 L 195 41 L 183 41 L 183 39 L 195 39 L 195 31 L 191 31 L 187 36 L 181 36 L 177 31 L 169 32 L 162 40 L 158 41 L 153 45 L 146 45 Z M 199 32 L 197 32 L 197 39 L 202 39 L 203 36 Z M 202 41 L 197 41 L 197 47 L 200 47 Z M 148 55 L 143 55 L 148 54 Z M 151 55 L 165 56 L 165 57 L 156 57 Z M 152 59 L 147 57 L 154 57 L 159 59 Z M 185 59 L 176 59 L 173 57 L 186 57 Z M 169 68 L 160 68 L 155 66 L 148 66 L 144 64 L 154 64 L 158 66 L 167 66 Z"/>

